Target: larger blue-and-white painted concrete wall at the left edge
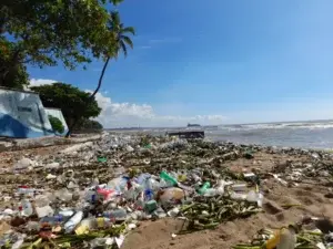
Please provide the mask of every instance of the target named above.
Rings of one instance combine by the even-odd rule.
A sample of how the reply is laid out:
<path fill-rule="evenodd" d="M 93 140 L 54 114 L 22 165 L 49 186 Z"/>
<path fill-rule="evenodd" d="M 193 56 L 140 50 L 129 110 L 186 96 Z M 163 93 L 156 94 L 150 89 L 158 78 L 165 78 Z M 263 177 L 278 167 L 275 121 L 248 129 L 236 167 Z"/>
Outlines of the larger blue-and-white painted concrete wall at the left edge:
<path fill-rule="evenodd" d="M 0 87 L 0 136 L 27 138 L 54 135 L 38 94 Z"/>

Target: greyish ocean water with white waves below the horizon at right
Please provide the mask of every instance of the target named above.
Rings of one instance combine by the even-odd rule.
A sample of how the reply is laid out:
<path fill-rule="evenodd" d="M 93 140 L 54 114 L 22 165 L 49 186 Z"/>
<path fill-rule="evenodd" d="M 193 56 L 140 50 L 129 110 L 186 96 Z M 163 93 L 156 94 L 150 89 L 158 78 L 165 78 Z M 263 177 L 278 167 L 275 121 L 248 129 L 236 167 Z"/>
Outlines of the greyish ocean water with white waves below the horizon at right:
<path fill-rule="evenodd" d="M 202 128 L 205 131 L 205 137 L 210 141 L 279 147 L 333 148 L 333 121 L 219 125 L 203 126 Z M 165 134 L 170 128 L 141 131 L 157 135 Z"/>

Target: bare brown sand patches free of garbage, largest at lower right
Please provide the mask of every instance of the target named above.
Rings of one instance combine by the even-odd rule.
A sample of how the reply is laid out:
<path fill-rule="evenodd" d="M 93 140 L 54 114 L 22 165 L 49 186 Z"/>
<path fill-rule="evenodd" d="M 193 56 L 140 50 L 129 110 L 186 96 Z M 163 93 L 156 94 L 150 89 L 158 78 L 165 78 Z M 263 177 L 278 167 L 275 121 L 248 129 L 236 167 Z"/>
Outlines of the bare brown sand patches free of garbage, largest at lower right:
<path fill-rule="evenodd" d="M 20 155 L 51 155 L 58 151 L 60 151 L 60 147 L 0 153 L 0 165 L 2 167 L 8 166 L 16 162 Z M 221 164 L 221 166 L 228 166 L 235 172 L 256 169 L 261 173 L 270 173 L 274 166 L 283 165 L 286 160 L 303 162 L 306 160 L 306 157 L 258 153 L 253 159 L 240 158 Z M 4 180 L 6 176 L 3 175 L 1 178 L 1 189 L 10 189 L 21 181 L 20 177 L 17 178 L 18 180 L 12 181 Z M 24 180 L 24 177 L 22 180 Z M 332 193 L 332 189 L 323 179 L 307 178 L 306 183 L 300 183 L 299 186 L 284 187 L 271 177 L 262 181 L 262 190 L 264 194 L 264 211 L 248 219 L 221 224 L 214 230 L 178 235 L 175 238 L 172 238 L 172 234 L 180 230 L 182 220 L 167 218 L 157 221 L 144 221 L 140 222 L 139 228 L 125 238 L 122 248 L 226 249 L 239 242 L 248 242 L 261 228 L 279 228 L 299 221 L 305 216 L 325 216 L 333 219 L 333 199 L 325 197 L 329 193 Z M 285 208 L 284 205 L 299 206 Z"/>

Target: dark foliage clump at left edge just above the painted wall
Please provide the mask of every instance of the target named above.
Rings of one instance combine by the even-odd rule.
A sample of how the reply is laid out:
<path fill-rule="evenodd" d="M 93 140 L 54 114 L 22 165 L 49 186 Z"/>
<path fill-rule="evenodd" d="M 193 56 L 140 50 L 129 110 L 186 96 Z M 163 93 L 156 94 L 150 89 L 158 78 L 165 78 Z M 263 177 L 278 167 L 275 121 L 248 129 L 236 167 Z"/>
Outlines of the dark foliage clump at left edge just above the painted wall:
<path fill-rule="evenodd" d="M 0 86 L 22 90 L 29 84 L 29 75 L 24 64 L 11 61 L 13 53 L 14 43 L 0 37 Z"/>

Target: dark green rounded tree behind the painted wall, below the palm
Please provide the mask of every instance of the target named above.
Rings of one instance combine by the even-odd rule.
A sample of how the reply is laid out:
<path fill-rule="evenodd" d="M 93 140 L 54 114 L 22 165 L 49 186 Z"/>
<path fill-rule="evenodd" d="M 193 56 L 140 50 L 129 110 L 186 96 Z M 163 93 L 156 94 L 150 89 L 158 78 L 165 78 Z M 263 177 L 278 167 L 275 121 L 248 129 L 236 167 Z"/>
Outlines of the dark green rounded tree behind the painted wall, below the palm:
<path fill-rule="evenodd" d="M 74 120 L 97 117 L 101 108 L 95 98 L 90 101 L 90 94 L 75 86 L 64 83 L 31 87 L 39 93 L 46 107 L 61 108 L 67 124 L 70 126 Z"/>

